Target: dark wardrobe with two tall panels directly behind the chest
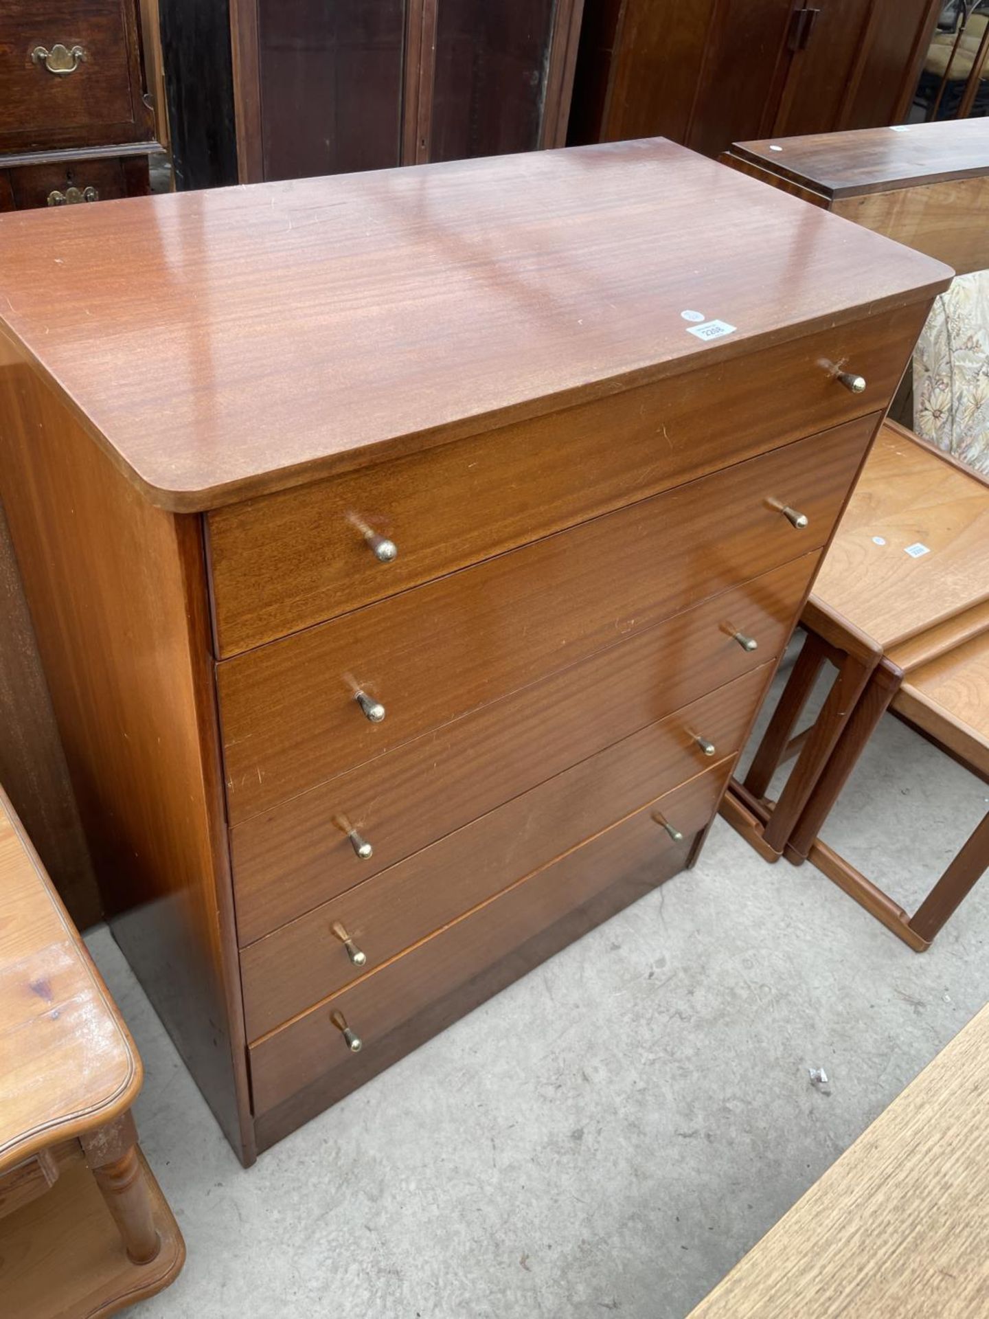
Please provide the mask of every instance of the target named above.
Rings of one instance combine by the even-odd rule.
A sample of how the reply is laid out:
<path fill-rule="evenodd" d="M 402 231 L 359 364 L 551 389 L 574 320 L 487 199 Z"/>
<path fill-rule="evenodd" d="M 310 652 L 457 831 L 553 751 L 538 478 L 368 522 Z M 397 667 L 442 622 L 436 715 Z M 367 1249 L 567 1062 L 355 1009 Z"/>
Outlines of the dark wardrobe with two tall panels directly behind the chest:
<path fill-rule="evenodd" d="M 563 145 L 582 0 L 231 0 L 241 182 Z"/>

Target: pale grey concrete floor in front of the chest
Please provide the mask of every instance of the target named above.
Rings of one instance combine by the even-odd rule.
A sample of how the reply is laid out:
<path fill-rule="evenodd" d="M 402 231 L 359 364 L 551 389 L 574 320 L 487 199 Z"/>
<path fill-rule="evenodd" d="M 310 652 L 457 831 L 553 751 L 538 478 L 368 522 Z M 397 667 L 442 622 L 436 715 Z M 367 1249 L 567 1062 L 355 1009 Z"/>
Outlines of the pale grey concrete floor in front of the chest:
<path fill-rule="evenodd" d="M 985 810 L 887 719 L 825 836 L 910 906 Z M 988 936 L 989 881 L 918 956 L 719 820 L 695 871 L 244 1171 L 98 930 L 189 1246 L 136 1312 L 679 1319 L 982 1006 Z"/>

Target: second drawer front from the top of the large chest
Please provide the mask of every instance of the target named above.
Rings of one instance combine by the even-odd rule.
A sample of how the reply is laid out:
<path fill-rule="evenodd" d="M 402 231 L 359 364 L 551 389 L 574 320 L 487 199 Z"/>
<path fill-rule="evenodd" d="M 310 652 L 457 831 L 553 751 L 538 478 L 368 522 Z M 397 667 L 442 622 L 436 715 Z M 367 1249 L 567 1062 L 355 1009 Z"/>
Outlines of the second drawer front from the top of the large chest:
<path fill-rule="evenodd" d="M 876 418 L 224 660 L 231 823 L 823 545 Z M 810 518 L 794 530 L 771 505 Z M 372 724 L 355 687 L 384 703 Z"/>

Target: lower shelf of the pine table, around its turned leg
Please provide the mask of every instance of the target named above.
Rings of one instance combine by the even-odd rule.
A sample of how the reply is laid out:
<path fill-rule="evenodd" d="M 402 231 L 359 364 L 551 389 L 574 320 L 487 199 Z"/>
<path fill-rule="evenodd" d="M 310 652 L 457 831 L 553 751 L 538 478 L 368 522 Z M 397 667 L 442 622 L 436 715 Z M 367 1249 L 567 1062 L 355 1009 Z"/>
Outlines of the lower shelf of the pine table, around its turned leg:
<path fill-rule="evenodd" d="M 92 1173 L 78 1159 L 47 1195 L 0 1220 L 0 1287 L 8 1314 L 96 1319 L 175 1279 L 186 1258 L 182 1233 L 140 1150 L 137 1158 L 161 1237 L 156 1258 L 142 1265 L 128 1260 Z"/>

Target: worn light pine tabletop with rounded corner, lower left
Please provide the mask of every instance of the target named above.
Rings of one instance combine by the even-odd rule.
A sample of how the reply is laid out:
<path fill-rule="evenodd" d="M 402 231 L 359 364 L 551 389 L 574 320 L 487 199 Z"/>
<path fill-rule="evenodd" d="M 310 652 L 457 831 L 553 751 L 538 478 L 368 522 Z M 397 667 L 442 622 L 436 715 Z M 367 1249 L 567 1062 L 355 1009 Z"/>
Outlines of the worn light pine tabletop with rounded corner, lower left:
<path fill-rule="evenodd" d="M 0 789 L 0 1174 L 141 1089 L 124 1020 Z"/>

